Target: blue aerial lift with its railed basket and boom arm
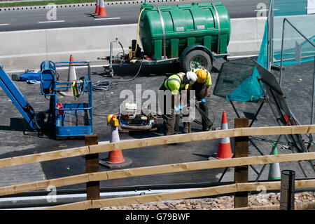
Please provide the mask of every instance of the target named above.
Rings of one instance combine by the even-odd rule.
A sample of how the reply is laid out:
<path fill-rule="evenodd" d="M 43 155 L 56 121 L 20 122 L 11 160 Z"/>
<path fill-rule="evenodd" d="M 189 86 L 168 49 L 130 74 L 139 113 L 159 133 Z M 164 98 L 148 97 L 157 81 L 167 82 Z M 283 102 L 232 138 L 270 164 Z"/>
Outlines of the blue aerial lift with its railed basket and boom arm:
<path fill-rule="evenodd" d="M 57 67 L 69 66 L 87 67 L 87 75 L 80 77 L 78 81 L 58 81 Z M 33 107 L 27 102 L 25 95 L 21 93 L 12 79 L 0 65 L 0 86 L 12 100 L 15 107 L 27 121 L 32 130 L 42 135 L 45 131 L 52 131 L 53 136 L 70 137 L 85 136 L 92 134 L 92 81 L 90 78 L 89 62 L 52 62 L 45 60 L 41 62 L 41 93 L 45 98 L 50 98 L 49 109 L 45 112 L 35 113 Z M 60 103 L 57 94 L 60 89 L 73 88 L 76 97 L 87 94 L 87 102 L 78 100 L 75 103 Z M 45 121 L 45 114 L 48 119 Z"/>

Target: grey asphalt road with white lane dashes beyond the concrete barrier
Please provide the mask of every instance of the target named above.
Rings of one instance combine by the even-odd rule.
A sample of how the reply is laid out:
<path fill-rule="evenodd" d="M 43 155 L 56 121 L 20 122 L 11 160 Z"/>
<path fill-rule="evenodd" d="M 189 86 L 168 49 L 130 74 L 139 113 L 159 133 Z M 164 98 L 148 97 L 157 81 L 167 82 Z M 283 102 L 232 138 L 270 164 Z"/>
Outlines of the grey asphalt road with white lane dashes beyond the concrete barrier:
<path fill-rule="evenodd" d="M 200 1 L 169 1 L 149 3 L 158 5 L 191 4 Z M 230 18 L 251 18 L 266 16 L 269 0 L 221 0 L 227 8 Z M 62 27 L 88 27 L 99 25 L 122 25 L 138 22 L 141 4 L 106 5 L 108 18 L 95 19 L 91 16 L 95 6 L 76 6 L 57 8 L 55 14 L 50 9 L 31 9 L 0 11 L 0 32 L 28 30 L 28 29 L 51 29 Z M 48 16 L 47 16 L 48 15 Z M 48 20 L 48 18 L 55 18 Z"/>

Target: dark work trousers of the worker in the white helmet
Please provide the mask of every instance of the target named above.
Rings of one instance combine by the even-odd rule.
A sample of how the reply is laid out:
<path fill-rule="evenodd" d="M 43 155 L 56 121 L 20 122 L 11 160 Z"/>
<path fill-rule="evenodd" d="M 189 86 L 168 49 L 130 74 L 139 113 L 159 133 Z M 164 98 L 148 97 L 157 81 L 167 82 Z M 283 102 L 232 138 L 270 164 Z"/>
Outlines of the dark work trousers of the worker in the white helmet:
<path fill-rule="evenodd" d="M 164 86 L 164 82 L 160 87 L 160 90 L 167 90 Z M 171 94 L 169 94 L 169 97 L 171 97 Z M 163 117 L 164 135 L 171 136 L 174 135 L 174 133 L 179 132 L 180 114 L 175 114 L 175 110 L 172 108 L 172 105 L 171 108 L 167 108 L 167 100 L 169 100 L 167 99 L 167 94 L 162 97 L 159 95 L 159 105 L 163 105 L 161 112 Z M 172 100 L 174 100 L 174 98 L 172 98 Z"/>

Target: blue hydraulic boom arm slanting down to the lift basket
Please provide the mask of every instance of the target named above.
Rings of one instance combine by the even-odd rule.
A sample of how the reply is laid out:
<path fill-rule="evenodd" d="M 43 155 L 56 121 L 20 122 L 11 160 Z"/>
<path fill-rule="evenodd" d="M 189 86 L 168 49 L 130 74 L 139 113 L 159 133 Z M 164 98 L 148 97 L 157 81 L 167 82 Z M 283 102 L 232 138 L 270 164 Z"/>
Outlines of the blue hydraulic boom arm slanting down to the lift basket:
<path fill-rule="evenodd" d="M 19 112 L 27 121 L 27 124 L 34 129 L 34 131 L 38 131 L 39 128 L 36 124 L 36 117 L 33 107 L 29 105 L 27 100 L 25 99 L 25 95 L 23 95 L 17 86 L 15 86 L 14 82 L 8 74 L 3 70 L 3 66 L 0 65 L 0 86 L 3 88 L 3 91 L 6 92 L 6 95 L 12 100 L 12 103 L 15 107 L 18 108 Z"/>

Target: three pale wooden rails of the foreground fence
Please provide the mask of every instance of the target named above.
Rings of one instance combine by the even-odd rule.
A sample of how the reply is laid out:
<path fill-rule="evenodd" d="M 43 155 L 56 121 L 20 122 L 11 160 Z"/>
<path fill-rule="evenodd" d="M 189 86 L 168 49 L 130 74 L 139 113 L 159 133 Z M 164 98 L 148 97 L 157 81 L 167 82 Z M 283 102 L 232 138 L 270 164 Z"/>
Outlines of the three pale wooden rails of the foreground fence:
<path fill-rule="evenodd" d="M 142 138 L 137 140 L 121 140 L 118 143 L 106 143 L 100 145 L 92 145 L 85 142 L 84 147 L 76 147 L 68 150 L 59 150 L 53 152 L 43 152 L 39 154 L 30 154 L 21 157 L 12 157 L 0 159 L 0 167 L 16 166 L 34 162 L 44 162 L 54 159 L 64 159 L 68 157 L 76 157 L 81 155 L 89 155 L 87 159 L 97 158 L 98 153 L 110 152 L 112 150 L 127 150 L 139 147 L 150 147 L 155 145 L 165 145 L 170 143 L 187 143 L 196 140 L 211 140 L 226 137 L 244 137 L 244 136 L 265 136 L 265 135 L 289 135 L 315 133 L 315 125 L 305 126 L 275 126 L 260 128 L 237 128 L 220 131 L 206 131 L 200 133 L 189 133 L 176 136 L 162 136 L 155 138 Z M 247 139 L 247 138 L 246 138 Z M 97 144 L 98 140 L 94 139 L 93 144 Z M 247 145 L 248 147 L 248 145 Z M 90 157 L 91 155 L 91 157 Z M 146 176 L 160 173 L 173 173 L 182 171 L 196 171 L 202 169 L 214 169 L 222 167 L 248 166 L 253 164 L 272 164 L 276 162 L 300 162 L 306 160 L 314 160 L 315 152 L 296 153 L 296 154 L 277 154 L 258 157 L 239 157 L 233 159 L 207 160 L 202 162 L 187 162 L 180 164 L 167 164 L 160 166 L 147 166 L 134 169 L 122 169 L 115 171 L 99 172 L 95 169 L 93 163 L 87 162 L 87 173 L 68 176 L 64 178 L 55 178 L 51 180 L 42 180 L 34 183 L 24 183 L 13 186 L 0 187 L 0 196 L 13 195 L 20 192 L 31 190 L 43 190 L 53 185 L 61 187 L 64 185 L 74 185 L 78 183 L 92 183 L 97 186 L 97 181 L 110 180 L 115 178 L 130 178 L 135 176 Z M 91 160 L 91 161 L 92 161 Z M 87 161 L 87 160 L 86 160 Z M 93 168 L 94 167 L 94 168 Z M 315 187 L 315 180 L 297 180 L 296 188 Z M 280 188 L 280 182 L 267 183 L 235 183 L 219 187 L 204 187 L 196 190 L 188 190 L 181 192 L 163 193 L 157 195 L 141 195 L 137 197 L 126 197 L 120 199 L 97 199 L 97 195 L 88 197 L 85 202 L 77 202 L 62 206 L 54 206 L 51 209 L 97 209 L 102 206 L 113 206 L 121 204 L 139 204 L 144 202 L 156 202 L 168 199 L 182 199 L 191 197 L 204 197 L 211 195 L 221 195 L 231 192 L 255 191 L 258 185 L 265 185 L 267 190 L 276 190 Z M 92 185 L 91 185 L 92 187 Z M 99 185 L 98 185 L 99 187 Z M 92 188 L 91 188 L 92 189 Z"/>

